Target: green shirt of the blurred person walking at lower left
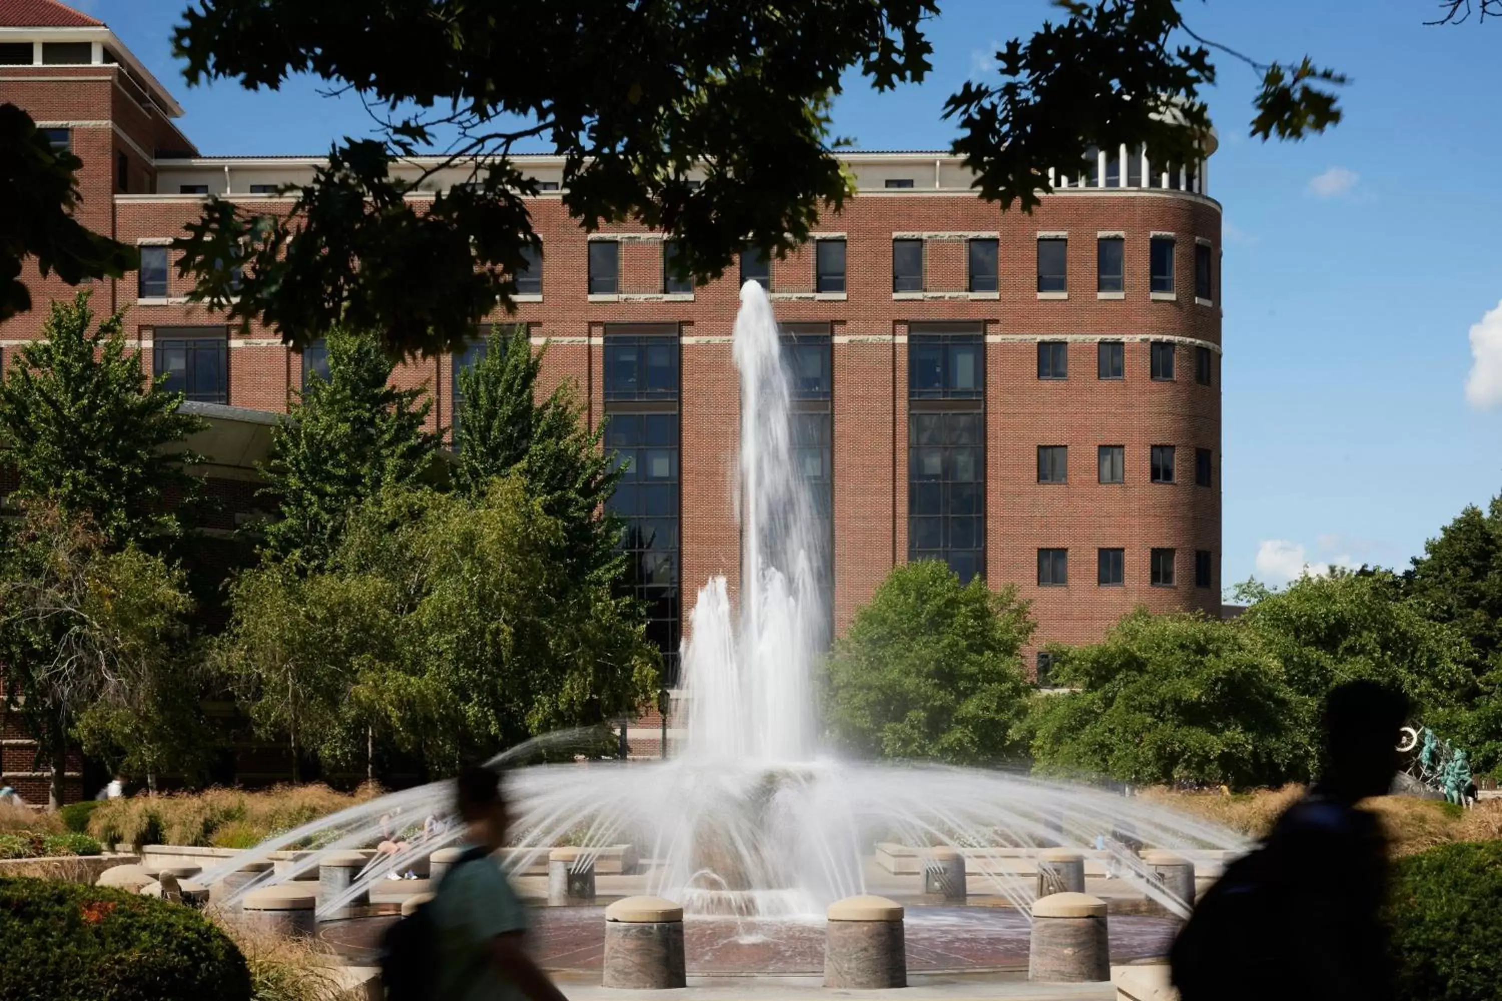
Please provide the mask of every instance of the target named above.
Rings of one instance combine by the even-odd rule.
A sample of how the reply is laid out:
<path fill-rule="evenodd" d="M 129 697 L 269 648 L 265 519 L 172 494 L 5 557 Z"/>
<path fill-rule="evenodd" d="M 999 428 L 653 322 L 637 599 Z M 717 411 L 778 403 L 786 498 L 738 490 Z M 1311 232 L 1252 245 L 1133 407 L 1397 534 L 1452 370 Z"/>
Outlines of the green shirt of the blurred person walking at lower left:
<path fill-rule="evenodd" d="M 493 858 L 455 866 L 433 899 L 439 968 L 434 996 L 445 1001 L 521 1001 L 490 959 L 497 935 L 527 927 L 517 891 Z"/>

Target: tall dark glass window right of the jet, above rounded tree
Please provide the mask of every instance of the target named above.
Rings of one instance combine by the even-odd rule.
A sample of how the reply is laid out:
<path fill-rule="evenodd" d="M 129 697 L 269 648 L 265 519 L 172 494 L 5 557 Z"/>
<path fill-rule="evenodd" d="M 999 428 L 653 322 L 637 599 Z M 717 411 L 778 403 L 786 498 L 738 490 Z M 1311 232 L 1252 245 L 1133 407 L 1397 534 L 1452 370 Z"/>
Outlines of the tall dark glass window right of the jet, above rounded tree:
<path fill-rule="evenodd" d="M 985 573 L 985 369 L 978 327 L 907 336 L 907 558 Z"/>

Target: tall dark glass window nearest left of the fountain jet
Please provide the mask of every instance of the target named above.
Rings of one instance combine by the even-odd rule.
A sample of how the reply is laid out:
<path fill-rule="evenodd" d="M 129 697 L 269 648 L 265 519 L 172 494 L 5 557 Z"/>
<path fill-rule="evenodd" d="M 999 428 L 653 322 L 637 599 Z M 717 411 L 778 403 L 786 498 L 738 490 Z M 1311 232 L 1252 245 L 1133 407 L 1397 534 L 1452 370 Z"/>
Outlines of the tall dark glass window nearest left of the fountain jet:
<path fill-rule="evenodd" d="M 668 687 L 682 636 L 677 353 L 677 324 L 605 326 L 605 449 L 625 470 L 607 509 L 625 522 L 620 546 Z"/>

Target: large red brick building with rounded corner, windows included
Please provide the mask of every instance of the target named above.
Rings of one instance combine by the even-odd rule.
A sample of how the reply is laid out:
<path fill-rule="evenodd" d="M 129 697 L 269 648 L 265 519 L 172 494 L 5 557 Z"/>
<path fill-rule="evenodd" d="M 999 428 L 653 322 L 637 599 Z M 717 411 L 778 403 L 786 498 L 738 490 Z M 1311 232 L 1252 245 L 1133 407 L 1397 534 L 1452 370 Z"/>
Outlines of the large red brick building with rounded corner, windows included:
<path fill-rule="evenodd" d="M 206 195 L 275 212 L 317 158 L 203 156 L 170 93 L 102 24 L 53 0 L 0 0 L 0 101 L 83 159 L 80 218 L 143 249 L 99 282 L 156 371 L 209 405 L 284 411 L 317 351 L 230 330 L 186 303 L 168 242 Z M 894 564 L 946 558 L 1033 602 L 1038 645 L 1089 641 L 1137 605 L 1220 609 L 1221 207 L 1205 164 L 1092 152 L 1032 213 L 1003 215 L 945 153 L 852 153 L 858 197 L 781 261 L 679 287 L 659 234 L 584 233 L 559 197 L 562 161 L 518 158 L 542 258 L 514 315 L 547 344 L 592 422 L 635 458 L 617 501 L 655 629 L 676 645 L 695 588 L 734 585 L 739 402 L 730 354 L 739 278 L 787 326 L 799 441 L 832 512 L 831 605 L 850 621 Z M 437 176 L 430 188 L 463 183 Z M 0 324 L 0 351 L 39 336 L 45 303 Z M 451 428 L 466 357 L 404 366 Z M 225 465 L 234 465 L 227 461 Z"/>

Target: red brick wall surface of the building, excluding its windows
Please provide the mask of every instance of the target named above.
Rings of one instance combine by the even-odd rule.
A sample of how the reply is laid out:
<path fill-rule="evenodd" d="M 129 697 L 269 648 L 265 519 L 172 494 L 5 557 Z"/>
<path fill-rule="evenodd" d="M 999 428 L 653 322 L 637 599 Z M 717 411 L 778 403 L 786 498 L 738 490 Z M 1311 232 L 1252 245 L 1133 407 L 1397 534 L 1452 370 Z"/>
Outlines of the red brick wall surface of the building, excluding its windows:
<path fill-rule="evenodd" d="M 275 212 L 285 203 L 249 192 L 251 183 L 306 177 L 306 158 L 194 159 L 197 153 L 161 113 L 138 99 L 138 83 L 120 66 L 0 66 L 0 101 L 14 101 L 42 123 L 72 128 L 84 161 L 80 218 L 117 239 L 161 242 L 180 236 L 200 212 L 200 197 L 182 183 L 209 185 L 237 201 Z M 150 153 L 143 158 L 140 153 Z M 128 158 L 128 188 L 117 185 Z M 993 585 L 1015 584 L 1033 602 L 1036 642 L 1090 641 L 1137 605 L 1154 611 L 1220 609 L 1221 539 L 1221 209 L 1203 194 L 1163 188 L 1071 188 L 1045 197 L 1032 213 L 1002 213 L 969 191 L 969 177 L 943 155 L 852 155 L 858 197 L 819 230 L 847 240 L 846 293 L 814 294 L 813 246 L 772 263 L 772 299 L 780 321 L 825 323 L 832 333 L 834 440 L 834 618 L 837 630 L 906 560 L 907 521 L 907 333 L 910 324 L 969 321 L 985 342 L 985 564 Z M 559 176 L 560 161 L 523 158 L 536 176 Z M 530 165 L 530 167 L 529 167 Z M 1157 167 L 1154 177 L 1157 179 Z M 551 171 L 551 174 L 550 174 Z M 1125 174 L 1125 171 L 1123 171 Z M 913 188 L 885 189 L 891 177 Z M 1203 170 L 1200 171 L 1203 179 Z M 1194 182 L 1196 188 L 1203 180 Z M 622 225 L 593 239 L 617 239 L 620 294 L 587 294 L 587 234 L 566 215 L 556 192 L 530 203 L 544 248 L 542 294 L 496 321 L 529 324 L 547 344 L 545 389 L 569 381 L 590 422 L 604 414 L 604 329 L 622 323 L 673 323 L 680 330 L 682 587 L 683 620 L 694 590 L 712 573 L 739 581 L 733 462 L 739 425 L 730 335 L 737 308 L 734 269 L 725 278 L 667 296 L 662 242 Z M 1096 239 L 1125 239 L 1125 293 L 1096 296 Z M 1068 297 L 1036 291 L 1039 234 L 1068 236 Z M 1149 239 L 1173 234 L 1176 296 L 1149 294 Z M 894 237 L 925 242 L 924 291 L 892 291 Z M 625 239 L 622 239 L 625 237 Z M 999 242 L 999 290 L 970 294 L 967 239 Z M 1196 300 L 1194 248 L 1205 242 L 1214 263 L 1212 297 Z M 33 281 L 36 308 L 0 324 L 0 347 L 41 333 L 50 299 L 72 290 Z M 101 312 L 125 309 L 126 326 L 150 357 L 164 327 L 209 326 L 215 317 L 182 302 L 176 270 L 165 300 L 137 302 L 137 279 L 99 282 Z M 222 320 L 219 321 L 222 326 Z M 264 330 L 228 335 L 228 402 L 284 411 L 300 384 L 300 359 Z M 1039 380 L 1039 339 L 1068 342 L 1068 378 Z M 1096 344 L 1125 342 L 1125 378 L 1096 378 Z M 1149 342 L 1176 344 L 1176 380 L 1149 378 Z M 1196 348 L 1212 351 L 1209 386 L 1196 381 Z M 433 423 L 454 417 L 451 360 L 404 365 L 403 386 L 427 387 Z M 1036 447 L 1068 446 L 1068 483 L 1036 482 Z M 1125 482 L 1101 485 L 1095 449 L 1125 446 Z M 1178 447 L 1178 482 L 1151 483 L 1149 449 Z M 1194 483 L 1194 450 L 1211 449 L 1211 486 Z M 1099 587 L 1098 548 L 1125 549 L 1125 581 Z M 1036 584 L 1036 551 L 1069 551 L 1066 587 Z M 1176 551 L 1173 587 L 1149 584 L 1149 551 Z M 1209 587 L 1194 585 L 1194 552 L 1212 554 Z"/>

